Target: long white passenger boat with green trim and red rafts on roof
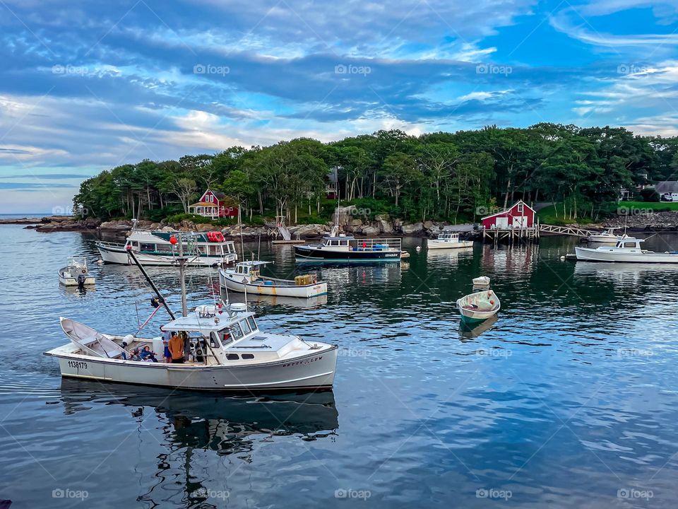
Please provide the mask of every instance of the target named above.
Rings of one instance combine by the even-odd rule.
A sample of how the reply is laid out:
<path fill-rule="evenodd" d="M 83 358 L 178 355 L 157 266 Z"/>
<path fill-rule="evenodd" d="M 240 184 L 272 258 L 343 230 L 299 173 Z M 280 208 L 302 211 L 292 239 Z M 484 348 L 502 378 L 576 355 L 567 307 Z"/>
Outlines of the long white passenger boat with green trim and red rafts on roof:
<path fill-rule="evenodd" d="M 135 223 L 136 225 L 136 223 Z M 97 241 L 104 263 L 132 263 L 129 250 L 133 250 L 142 265 L 176 264 L 179 252 L 179 237 L 184 244 L 184 254 L 189 257 L 190 265 L 211 267 L 214 264 L 232 264 L 237 261 L 235 242 L 226 240 L 221 232 L 183 233 L 166 231 L 145 231 L 132 228 L 126 242 Z"/>

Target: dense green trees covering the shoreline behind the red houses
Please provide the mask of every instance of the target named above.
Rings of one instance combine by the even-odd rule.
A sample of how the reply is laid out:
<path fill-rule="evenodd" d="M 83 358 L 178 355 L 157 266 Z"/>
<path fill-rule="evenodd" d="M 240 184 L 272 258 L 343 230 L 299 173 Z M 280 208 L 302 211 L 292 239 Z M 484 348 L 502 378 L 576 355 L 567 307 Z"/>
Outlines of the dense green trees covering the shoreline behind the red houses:
<path fill-rule="evenodd" d="M 210 188 L 240 206 L 244 221 L 285 215 L 290 223 L 320 222 L 336 205 L 326 194 L 333 169 L 342 204 L 356 204 L 365 216 L 472 221 L 523 199 L 554 204 L 571 220 L 598 220 L 620 189 L 634 194 L 637 186 L 677 180 L 678 137 L 542 123 L 421 136 L 377 131 L 326 144 L 301 138 L 121 165 L 85 180 L 73 205 L 103 220 L 176 220 Z M 636 198 L 656 199 L 652 192 Z"/>

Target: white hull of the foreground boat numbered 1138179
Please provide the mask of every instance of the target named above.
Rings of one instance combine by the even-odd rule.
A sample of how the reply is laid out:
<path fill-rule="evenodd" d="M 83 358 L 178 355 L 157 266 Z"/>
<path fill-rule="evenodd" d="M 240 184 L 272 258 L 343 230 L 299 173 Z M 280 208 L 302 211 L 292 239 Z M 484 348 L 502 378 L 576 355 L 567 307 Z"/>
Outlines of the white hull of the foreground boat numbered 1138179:
<path fill-rule="evenodd" d="M 58 350 L 58 349 L 57 349 Z M 338 347 L 288 360 L 256 365 L 196 366 L 93 358 L 49 351 L 59 361 L 61 376 L 189 390 L 293 390 L 331 387 Z"/>

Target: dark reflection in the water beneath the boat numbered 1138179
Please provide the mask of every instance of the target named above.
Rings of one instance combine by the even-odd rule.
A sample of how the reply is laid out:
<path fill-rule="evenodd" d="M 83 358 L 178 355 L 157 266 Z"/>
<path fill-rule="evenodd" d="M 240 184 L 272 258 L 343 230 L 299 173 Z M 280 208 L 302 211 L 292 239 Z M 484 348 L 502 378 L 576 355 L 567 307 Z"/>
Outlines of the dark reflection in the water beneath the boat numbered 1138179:
<path fill-rule="evenodd" d="M 321 440 L 337 435 L 339 427 L 331 390 L 246 397 L 64 379 L 61 403 L 67 415 L 110 405 L 129 408 L 131 426 L 144 433 L 128 435 L 125 447 L 154 451 L 130 456 L 139 472 L 137 501 L 148 507 L 222 506 L 224 498 L 240 496 L 238 479 L 248 475 L 246 465 L 259 468 L 267 461 L 261 460 L 262 451 L 270 450 L 264 444 Z M 206 478 L 206 469 L 213 475 Z"/>

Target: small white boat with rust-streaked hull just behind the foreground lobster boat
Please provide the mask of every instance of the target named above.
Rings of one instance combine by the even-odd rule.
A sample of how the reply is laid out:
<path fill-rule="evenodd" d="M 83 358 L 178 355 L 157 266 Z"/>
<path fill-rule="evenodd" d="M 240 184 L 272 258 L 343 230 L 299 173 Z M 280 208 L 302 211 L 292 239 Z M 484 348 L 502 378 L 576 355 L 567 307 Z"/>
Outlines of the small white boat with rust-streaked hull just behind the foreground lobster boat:
<path fill-rule="evenodd" d="M 262 276 L 259 268 L 270 262 L 239 262 L 232 269 L 220 269 L 222 288 L 257 295 L 311 298 L 327 293 L 327 283 L 308 274 L 295 279 L 277 279 Z"/>

